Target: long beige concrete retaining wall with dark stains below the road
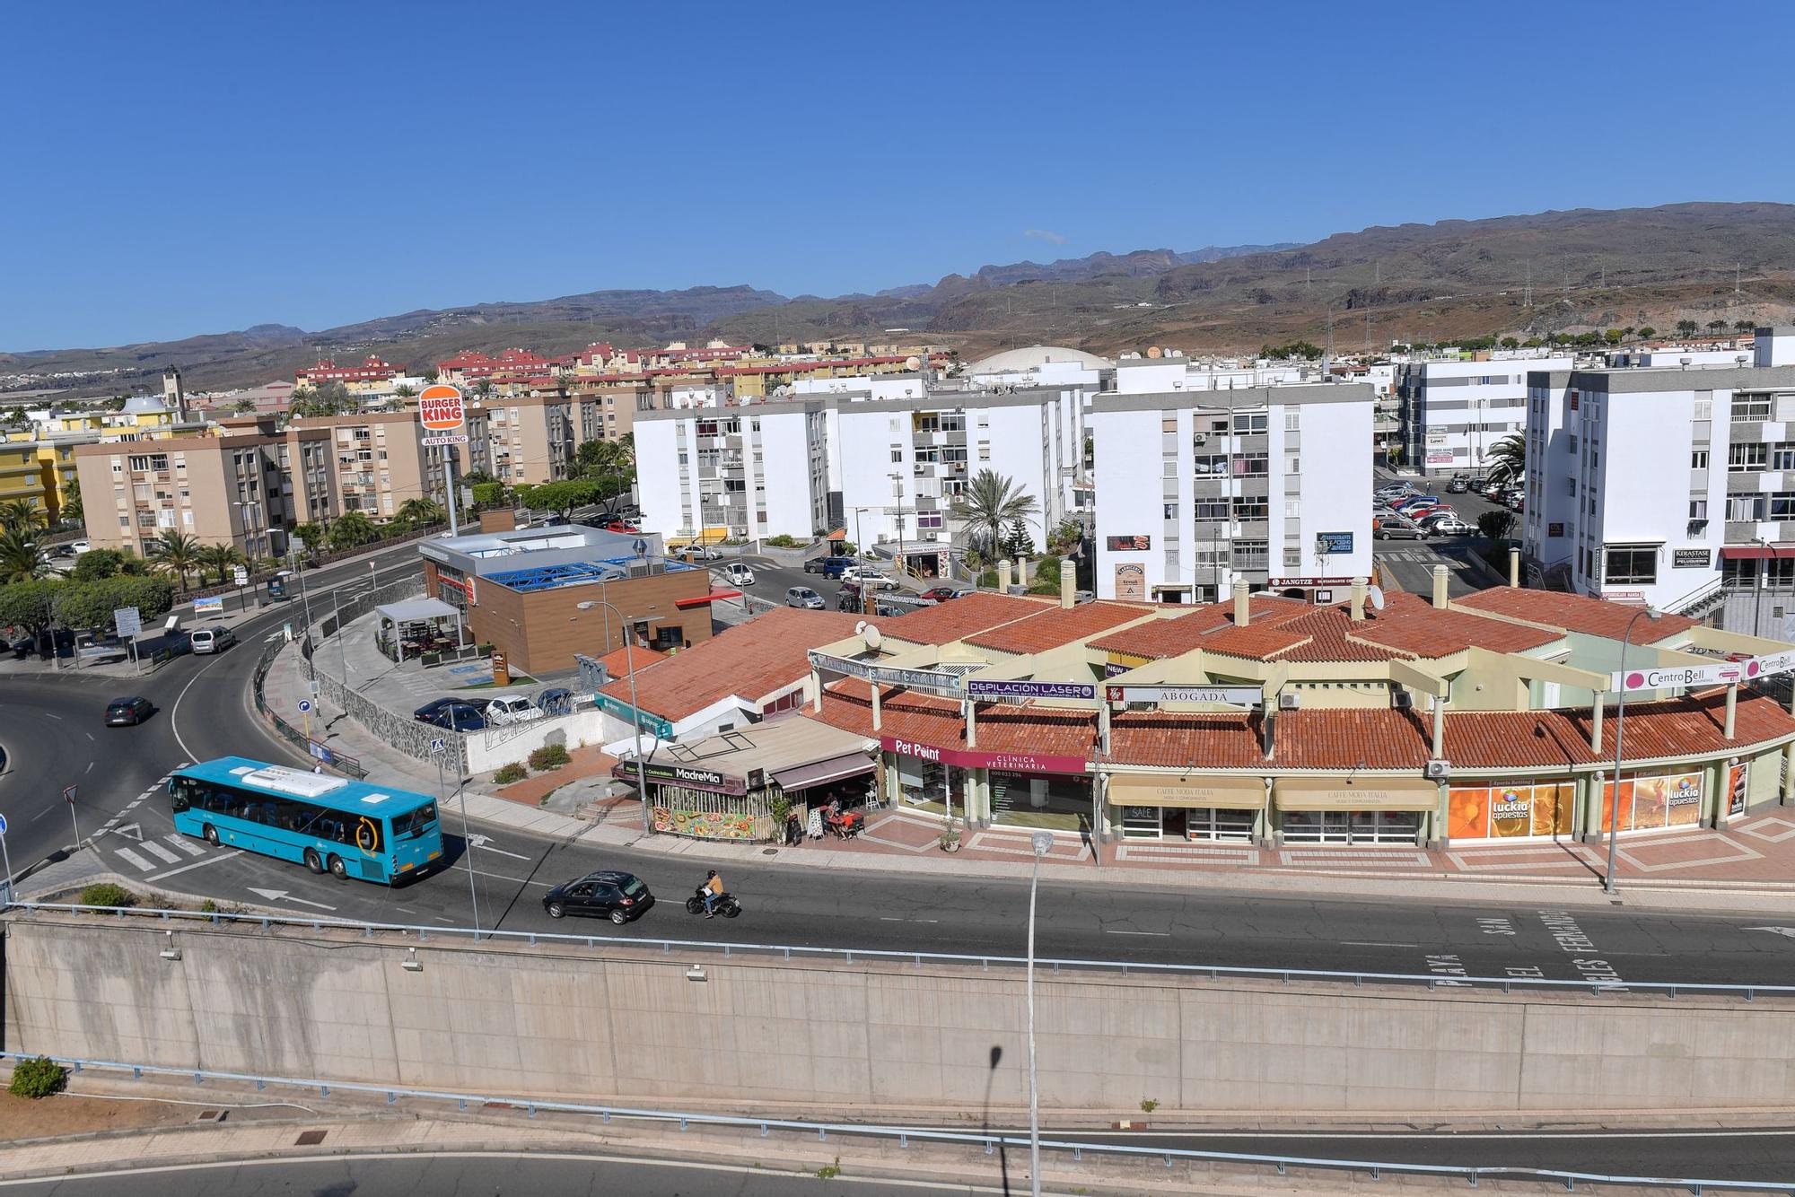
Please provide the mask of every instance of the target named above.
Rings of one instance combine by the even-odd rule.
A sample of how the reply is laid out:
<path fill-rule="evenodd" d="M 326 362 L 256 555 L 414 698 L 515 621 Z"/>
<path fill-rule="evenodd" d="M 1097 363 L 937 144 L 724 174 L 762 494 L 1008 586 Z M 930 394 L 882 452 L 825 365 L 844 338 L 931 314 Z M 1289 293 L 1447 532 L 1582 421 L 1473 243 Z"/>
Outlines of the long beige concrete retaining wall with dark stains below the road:
<path fill-rule="evenodd" d="M 609 928 L 607 928 L 609 930 Z M 1012 969 L 486 949 L 5 924 L 5 1046 L 528 1097 L 969 1111 L 1027 1102 Z M 707 980 L 686 978 L 702 964 Z M 1795 1007 L 1038 976 L 1059 1109 L 1605 1111 L 1786 1105 Z M 993 1048 L 1002 1062 L 991 1066 Z"/>

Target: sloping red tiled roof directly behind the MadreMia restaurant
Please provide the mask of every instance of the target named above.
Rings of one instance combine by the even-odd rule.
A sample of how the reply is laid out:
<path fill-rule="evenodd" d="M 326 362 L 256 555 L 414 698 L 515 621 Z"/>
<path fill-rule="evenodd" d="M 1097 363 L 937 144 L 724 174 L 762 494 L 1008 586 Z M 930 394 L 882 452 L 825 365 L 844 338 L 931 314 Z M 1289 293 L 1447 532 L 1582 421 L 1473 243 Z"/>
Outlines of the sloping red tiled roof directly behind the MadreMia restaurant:
<path fill-rule="evenodd" d="M 731 695 L 761 698 L 806 677 L 806 651 L 853 635 L 856 623 L 856 616 L 775 607 L 740 628 L 639 668 L 637 705 L 679 721 Z M 630 684 L 612 682 L 600 693 L 628 702 Z"/>

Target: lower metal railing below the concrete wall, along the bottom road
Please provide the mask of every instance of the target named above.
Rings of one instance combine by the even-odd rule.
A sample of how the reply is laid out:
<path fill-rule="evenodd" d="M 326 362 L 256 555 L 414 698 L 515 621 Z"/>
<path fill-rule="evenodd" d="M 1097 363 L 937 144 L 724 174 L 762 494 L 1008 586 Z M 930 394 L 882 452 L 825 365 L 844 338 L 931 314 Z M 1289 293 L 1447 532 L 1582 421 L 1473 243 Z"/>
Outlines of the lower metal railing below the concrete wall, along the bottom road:
<path fill-rule="evenodd" d="M 32 1052 L 0 1052 L 0 1059 L 7 1061 L 27 1061 L 39 1059 Z M 639 1105 L 605 1105 L 592 1102 L 556 1102 L 556 1100 L 537 1100 L 528 1097 L 503 1097 L 492 1093 L 452 1093 L 443 1089 L 406 1089 L 400 1086 L 386 1084 L 364 1084 L 352 1080 L 318 1080 L 318 1079 L 296 1079 L 296 1077 L 264 1077 L 257 1073 L 226 1073 L 212 1071 L 206 1068 L 171 1068 L 163 1064 L 122 1064 L 118 1061 L 86 1061 L 66 1055 L 48 1055 L 48 1059 L 63 1068 L 83 1073 L 88 1070 L 95 1071 L 127 1071 L 133 1080 L 142 1080 L 144 1077 L 192 1077 L 194 1084 L 205 1084 L 206 1080 L 223 1080 L 230 1084 L 253 1084 L 255 1089 L 266 1091 L 267 1086 L 276 1086 L 282 1089 L 303 1089 L 316 1091 L 321 1098 L 328 1098 L 332 1091 L 341 1093 L 366 1093 L 373 1097 L 384 1097 L 388 1105 L 397 1105 L 398 1098 L 416 1100 L 416 1102 L 454 1102 L 456 1109 L 465 1113 L 468 1105 L 477 1107 L 497 1107 L 517 1111 L 522 1109 L 524 1116 L 535 1118 L 538 1113 L 553 1114 L 585 1114 L 601 1118 L 609 1125 L 614 1118 L 626 1118 L 632 1122 L 657 1122 L 657 1123 L 677 1123 L 680 1131 L 689 1131 L 693 1127 L 727 1127 L 741 1131 L 759 1131 L 761 1138 L 772 1136 L 774 1131 L 815 1134 L 819 1143 L 829 1141 L 829 1136 L 842 1138 L 874 1138 L 874 1140 L 896 1140 L 899 1149 L 908 1150 L 910 1143 L 928 1143 L 928 1145 L 946 1145 L 946 1147 L 984 1147 L 985 1154 L 991 1156 L 998 1149 L 1027 1149 L 1029 1138 L 1023 1134 L 1005 1134 L 1002 1131 L 941 1131 L 933 1127 L 885 1127 L 858 1122 L 799 1122 L 793 1118 L 756 1118 L 752 1114 L 707 1114 L 695 1111 L 675 1111 L 675 1109 L 652 1109 Z M 1612 1175 L 1605 1172 L 1569 1172 L 1563 1168 L 1531 1168 L 1515 1165 L 1441 1165 L 1441 1163 L 1411 1163 L 1411 1161 L 1384 1161 L 1384 1159 L 1334 1159 L 1319 1156 L 1267 1156 L 1258 1152 L 1219 1152 L 1219 1150 L 1201 1150 L 1188 1147 L 1133 1147 L 1127 1143 L 1093 1143 L 1082 1140 L 1041 1140 L 1041 1150 L 1057 1152 L 1061 1156 L 1072 1154 L 1073 1161 L 1082 1161 L 1086 1154 L 1102 1158 L 1115 1158 L 1122 1161 L 1163 1161 L 1167 1168 L 1179 1163 L 1185 1165 L 1210 1165 L 1210 1163 L 1233 1163 L 1249 1165 L 1260 1168 L 1276 1168 L 1278 1175 L 1289 1175 L 1291 1168 L 1312 1168 L 1327 1172 L 1350 1172 L 1364 1174 L 1373 1181 L 1380 1181 L 1386 1172 L 1397 1175 L 1436 1175 L 1436 1177 L 1456 1177 L 1477 1184 L 1479 1179 L 1537 1179 L 1537 1181 L 1554 1181 L 1563 1184 L 1565 1190 L 1576 1190 L 1578 1181 L 1590 1184 L 1632 1184 L 1632 1186 L 1666 1186 L 1682 1188 L 1691 1193 L 1700 1193 L 1707 1188 L 1714 1190 L 1732 1190 L 1732 1192 L 1759 1192 L 1759 1193 L 1791 1193 L 1795 1192 L 1795 1181 L 1709 1181 L 1696 1177 L 1657 1177 L 1657 1175 Z"/>

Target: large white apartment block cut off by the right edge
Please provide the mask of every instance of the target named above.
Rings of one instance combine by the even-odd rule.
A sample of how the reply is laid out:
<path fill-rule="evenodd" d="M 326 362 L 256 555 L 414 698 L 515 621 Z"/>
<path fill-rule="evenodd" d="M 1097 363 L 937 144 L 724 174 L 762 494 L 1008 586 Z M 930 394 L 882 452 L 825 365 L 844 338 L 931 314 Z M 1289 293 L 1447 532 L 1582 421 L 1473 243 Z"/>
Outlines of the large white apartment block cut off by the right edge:
<path fill-rule="evenodd" d="M 1795 328 L 1761 328 L 1732 364 L 1680 357 L 1528 375 L 1528 571 L 1682 614 L 1725 605 L 1732 630 L 1795 632 L 1795 605 L 1775 607 L 1777 626 L 1723 585 L 1795 581 Z"/>

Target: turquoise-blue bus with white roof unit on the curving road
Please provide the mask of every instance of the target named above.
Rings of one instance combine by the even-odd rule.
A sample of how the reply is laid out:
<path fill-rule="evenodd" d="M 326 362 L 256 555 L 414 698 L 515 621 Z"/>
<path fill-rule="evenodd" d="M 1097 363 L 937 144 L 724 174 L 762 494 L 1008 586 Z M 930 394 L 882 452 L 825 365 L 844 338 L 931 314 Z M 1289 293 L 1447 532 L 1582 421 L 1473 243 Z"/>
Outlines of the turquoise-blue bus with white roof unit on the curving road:
<path fill-rule="evenodd" d="M 169 777 L 169 804 L 176 831 L 336 878 L 393 885 L 443 854 L 429 795 L 284 765 L 188 765 Z"/>

